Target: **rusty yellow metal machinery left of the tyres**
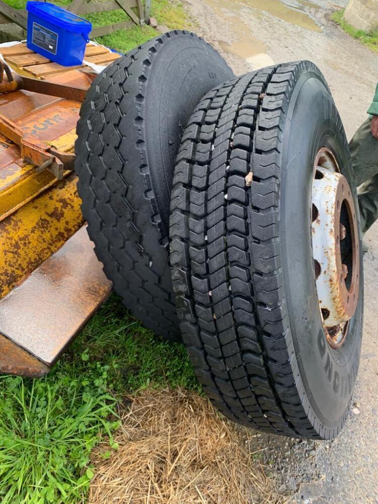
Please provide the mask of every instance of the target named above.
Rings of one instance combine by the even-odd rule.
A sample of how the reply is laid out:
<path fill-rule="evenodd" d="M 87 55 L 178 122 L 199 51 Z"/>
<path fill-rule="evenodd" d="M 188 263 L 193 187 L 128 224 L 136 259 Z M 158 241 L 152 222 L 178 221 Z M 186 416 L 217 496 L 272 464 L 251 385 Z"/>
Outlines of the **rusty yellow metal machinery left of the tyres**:
<path fill-rule="evenodd" d="M 8 64 L 0 83 L 0 372 L 41 376 L 111 288 L 72 171 L 80 102 L 94 76 L 25 44 L 0 52 Z M 96 64 L 117 57 L 87 46 Z"/>

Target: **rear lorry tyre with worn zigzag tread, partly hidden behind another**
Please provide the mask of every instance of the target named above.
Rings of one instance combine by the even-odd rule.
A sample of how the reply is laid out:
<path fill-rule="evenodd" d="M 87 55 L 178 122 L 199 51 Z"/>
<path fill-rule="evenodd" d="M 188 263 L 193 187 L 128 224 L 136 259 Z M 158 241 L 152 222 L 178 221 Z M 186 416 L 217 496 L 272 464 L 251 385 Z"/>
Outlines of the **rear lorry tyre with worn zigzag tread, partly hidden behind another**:
<path fill-rule="evenodd" d="M 180 339 L 168 266 L 169 194 L 188 117 L 233 77 L 193 33 L 161 35 L 93 82 L 77 126 L 82 211 L 114 291 L 144 325 Z"/>

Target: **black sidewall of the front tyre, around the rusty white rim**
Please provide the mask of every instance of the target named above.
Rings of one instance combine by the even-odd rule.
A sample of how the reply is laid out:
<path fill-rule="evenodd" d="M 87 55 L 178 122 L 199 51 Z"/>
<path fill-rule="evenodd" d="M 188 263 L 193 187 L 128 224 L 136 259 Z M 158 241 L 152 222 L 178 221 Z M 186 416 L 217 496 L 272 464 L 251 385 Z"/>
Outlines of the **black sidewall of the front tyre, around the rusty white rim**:
<path fill-rule="evenodd" d="M 329 148 L 342 167 L 358 214 L 349 150 L 337 109 L 321 76 L 307 72 L 296 83 L 283 134 L 282 266 L 293 351 L 306 399 L 320 428 L 338 431 L 349 408 L 361 351 L 362 257 L 357 309 L 349 322 L 345 343 L 334 350 L 323 330 L 311 244 L 313 163 L 321 147 Z"/>

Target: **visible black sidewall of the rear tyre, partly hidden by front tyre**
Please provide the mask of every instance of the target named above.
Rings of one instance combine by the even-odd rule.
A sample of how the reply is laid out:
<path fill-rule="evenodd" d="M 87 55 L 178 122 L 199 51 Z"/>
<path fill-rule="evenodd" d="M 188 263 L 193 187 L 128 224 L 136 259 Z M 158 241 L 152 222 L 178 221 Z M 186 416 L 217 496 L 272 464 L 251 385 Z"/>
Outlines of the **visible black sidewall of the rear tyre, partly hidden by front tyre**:
<path fill-rule="evenodd" d="M 145 135 L 154 197 L 168 235 L 173 170 L 186 122 L 203 95 L 234 75 L 210 45 L 190 34 L 159 52 L 158 61 L 152 58 L 154 80 L 146 86 Z"/>

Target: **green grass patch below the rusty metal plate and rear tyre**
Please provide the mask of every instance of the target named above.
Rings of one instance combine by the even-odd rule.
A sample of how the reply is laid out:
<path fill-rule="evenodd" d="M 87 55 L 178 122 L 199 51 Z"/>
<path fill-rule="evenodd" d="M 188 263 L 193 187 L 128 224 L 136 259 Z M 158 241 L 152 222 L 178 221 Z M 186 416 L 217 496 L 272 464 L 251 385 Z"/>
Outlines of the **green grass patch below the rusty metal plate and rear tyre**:
<path fill-rule="evenodd" d="M 154 337 L 112 296 L 48 376 L 0 376 L 0 502 L 85 501 L 90 451 L 104 435 L 116 450 L 125 395 L 177 386 L 199 391 L 183 346 Z"/>

